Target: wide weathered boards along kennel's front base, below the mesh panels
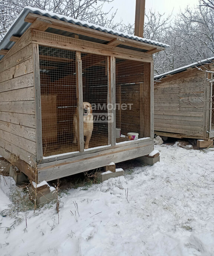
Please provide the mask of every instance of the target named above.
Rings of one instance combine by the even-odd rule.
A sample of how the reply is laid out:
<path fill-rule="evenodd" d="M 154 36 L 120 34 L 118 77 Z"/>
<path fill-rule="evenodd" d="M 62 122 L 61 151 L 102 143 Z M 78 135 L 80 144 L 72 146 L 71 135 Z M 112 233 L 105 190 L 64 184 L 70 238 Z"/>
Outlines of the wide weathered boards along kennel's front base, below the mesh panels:
<path fill-rule="evenodd" d="M 139 147 L 122 147 L 120 150 L 114 150 L 113 153 L 105 151 L 104 154 L 91 154 L 86 155 L 85 159 L 72 160 L 67 159 L 62 163 L 56 163 L 53 166 L 47 166 L 47 164 L 40 164 L 38 166 L 38 180 L 52 180 L 58 177 L 65 177 L 75 173 L 84 172 L 87 170 L 100 168 L 108 165 L 111 161 L 118 163 L 123 159 L 129 160 L 140 156 L 145 156 L 153 150 L 153 142 L 150 144 L 145 144 Z M 56 167 L 55 167 L 56 166 Z"/>

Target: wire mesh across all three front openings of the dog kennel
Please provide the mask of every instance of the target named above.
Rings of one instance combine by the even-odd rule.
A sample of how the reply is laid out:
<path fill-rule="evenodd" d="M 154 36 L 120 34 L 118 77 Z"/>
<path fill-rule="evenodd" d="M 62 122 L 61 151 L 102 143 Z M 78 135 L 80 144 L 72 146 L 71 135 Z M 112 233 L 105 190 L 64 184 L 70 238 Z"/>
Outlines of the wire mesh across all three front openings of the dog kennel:
<path fill-rule="evenodd" d="M 76 52 L 39 47 L 43 155 L 79 151 L 75 141 Z M 110 144 L 108 57 L 81 53 L 85 147 Z M 85 104 L 85 105 L 84 105 Z M 116 59 L 116 142 L 150 134 L 150 64 Z M 92 113 L 91 113 L 92 112 Z M 93 123 L 85 128 L 88 116 Z M 91 131 L 89 144 L 87 134 Z M 121 136 L 120 136 L 121 135 Z M 136 138 L 137 138 L 136 137 Z M 136 139 L 135 138 L 135 139 Z"/>

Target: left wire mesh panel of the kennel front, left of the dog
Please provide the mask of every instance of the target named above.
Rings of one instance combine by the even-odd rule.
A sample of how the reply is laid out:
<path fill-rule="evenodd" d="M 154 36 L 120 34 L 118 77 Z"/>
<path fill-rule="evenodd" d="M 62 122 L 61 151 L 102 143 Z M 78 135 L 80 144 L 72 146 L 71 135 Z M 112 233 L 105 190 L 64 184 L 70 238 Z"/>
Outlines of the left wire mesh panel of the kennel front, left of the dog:
<path fill-rule="evenodd" d="M 78 151 L 75 52 L 39 46 L 43 155 Z"/>

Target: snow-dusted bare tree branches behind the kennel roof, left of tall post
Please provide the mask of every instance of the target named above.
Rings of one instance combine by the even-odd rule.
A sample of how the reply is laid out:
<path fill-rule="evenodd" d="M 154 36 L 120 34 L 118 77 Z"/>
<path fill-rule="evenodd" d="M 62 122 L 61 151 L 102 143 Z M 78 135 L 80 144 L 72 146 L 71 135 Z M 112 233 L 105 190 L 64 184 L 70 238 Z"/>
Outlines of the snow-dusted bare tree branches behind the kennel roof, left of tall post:
<path fill-rule="evenodd" d="M 103 12 L 103 5 L 114 0 L 0 0 L 0 39 L 25 6 L 80 19 L 100 26 L 116 29 L 121 22 L 114 23 L 116 11 Z"/>

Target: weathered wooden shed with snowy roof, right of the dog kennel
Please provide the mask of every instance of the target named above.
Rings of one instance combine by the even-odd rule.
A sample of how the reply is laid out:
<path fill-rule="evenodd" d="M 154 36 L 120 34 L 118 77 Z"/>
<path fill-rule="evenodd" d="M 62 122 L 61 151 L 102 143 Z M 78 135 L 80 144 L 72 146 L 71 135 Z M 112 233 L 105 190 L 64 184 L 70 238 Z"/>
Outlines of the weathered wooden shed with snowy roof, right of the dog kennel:
<path fill-rule="evenodd" d="M 214 138 L 214 57 L 155 76 L 155 133 Z"/>

